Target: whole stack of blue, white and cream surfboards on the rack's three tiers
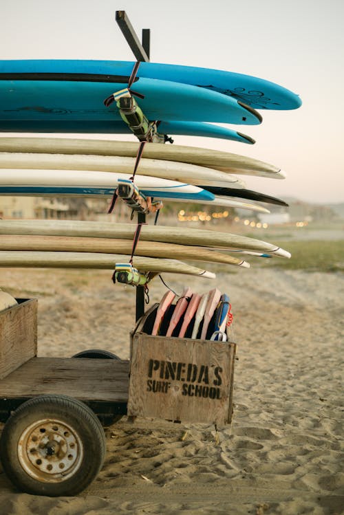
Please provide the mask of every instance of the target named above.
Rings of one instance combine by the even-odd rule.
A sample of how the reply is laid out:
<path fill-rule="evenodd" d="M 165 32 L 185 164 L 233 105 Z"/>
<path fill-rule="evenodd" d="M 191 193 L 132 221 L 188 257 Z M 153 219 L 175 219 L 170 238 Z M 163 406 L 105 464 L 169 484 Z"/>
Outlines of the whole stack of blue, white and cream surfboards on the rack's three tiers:
<path fill-rule="evenodd" d="M 103 100 L 128 84 L 125 61 L 0 61 L 0 131 L 126 133 L 116 102 Z M 254 141 L 216 123 L 259 124 L 256 109 L 296 109 L 299 96 L 266 80 L 219 70 L 141 63 L 133 89 L 145 116 L 162 135 L 203 135 Z M 0 195 L 112 197 L 129 179 L 137 142 L 66 138 L 0 138 Z M 286 205 L 246 188 L 237 175 L 283 179 L 277 166 L 241 155 L 149 143 L 135 183 L 164 201 L 268 210 L 255 201 Z M 0 221 L 0 266 L 114 268 L 131 254 L 135 226 L 65 221 Z M 237 256 L 288 252 L 235 234 L 144 226 L 134 265 L 142 271 L 213 276 L 180 259 L 248 267 Z"/>

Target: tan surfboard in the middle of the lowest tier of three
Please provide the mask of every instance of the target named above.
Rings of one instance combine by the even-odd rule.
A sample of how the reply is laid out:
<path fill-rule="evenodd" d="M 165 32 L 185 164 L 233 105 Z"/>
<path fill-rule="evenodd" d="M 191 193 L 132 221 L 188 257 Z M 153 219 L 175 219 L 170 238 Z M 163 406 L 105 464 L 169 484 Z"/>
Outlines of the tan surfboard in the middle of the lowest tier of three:
<path fill-rule="evenodd" d="M 0 250 L 35 250 L 60 252 L 100 252 L 102 254 L 131 255 L 133 243 L 129 239 L 83 238 L 67 236 L 36 236 L 19 234 L 0 234 Z M 246 261 L 192 245 L 175 243 L 159 243 L 157 241 L 138 241 L 136 256 L 171 258 L 180 260 L 204 261 L 206 263 L 222 263 L 249 268 Z"/>

